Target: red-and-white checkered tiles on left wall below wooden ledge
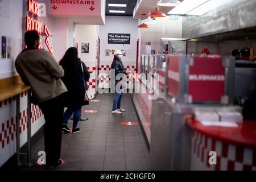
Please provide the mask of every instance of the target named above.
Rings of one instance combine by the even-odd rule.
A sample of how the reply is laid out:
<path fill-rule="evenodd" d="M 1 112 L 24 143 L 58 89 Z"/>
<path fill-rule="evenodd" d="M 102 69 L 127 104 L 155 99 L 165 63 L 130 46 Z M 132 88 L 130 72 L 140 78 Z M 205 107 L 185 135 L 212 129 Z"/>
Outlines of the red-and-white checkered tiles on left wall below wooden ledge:
<path fill-rule="evenodd" d="M 27 92 L 20 94 L 21 97 L 27 96 Z M 9 98 L 8 100 L 0 102 L 0 109 L 3 106 L 6 106 L 8 103 L 15 101 L 16 97 Z M 39 106 L 32 105 L 31 107 L 31 122 L 36 122 L 37 119 L 42 117 L 43 113 L 39 109 Z M 27 110 L 23 110 L 19 113 L 20 118 L 20 127 L 19 127 L 19 134 L 27 129 Z M 0 118 L 2 119 L 2 118 Z M 12 117 L 10 120 L 3 122 L 0 127 L 0 146 L 4 148 L 8 145 L 11 141 L 14 140 L 14 136 L 16 138 L 16 118 Z"/>

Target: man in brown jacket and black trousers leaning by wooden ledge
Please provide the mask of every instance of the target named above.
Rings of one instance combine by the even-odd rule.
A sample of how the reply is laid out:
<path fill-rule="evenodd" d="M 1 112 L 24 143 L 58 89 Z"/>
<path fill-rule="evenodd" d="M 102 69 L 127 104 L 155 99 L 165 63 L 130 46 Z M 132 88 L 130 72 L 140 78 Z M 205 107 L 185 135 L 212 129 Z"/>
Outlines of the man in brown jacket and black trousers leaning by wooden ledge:
<path fill-rule="evenodd" d="M 46 167 L 59 166 L 61 126 L 63 122 L 63 94 L 67 88 L 61 81 L 63 68 L 48 51 L 39 50 L 37 31 L 27 31 L 24 49 L 15 60 L 15 68 L 22 81 L 32 87 L 32 103 L 39 105 L 44 114 L 44 147 Z"/>

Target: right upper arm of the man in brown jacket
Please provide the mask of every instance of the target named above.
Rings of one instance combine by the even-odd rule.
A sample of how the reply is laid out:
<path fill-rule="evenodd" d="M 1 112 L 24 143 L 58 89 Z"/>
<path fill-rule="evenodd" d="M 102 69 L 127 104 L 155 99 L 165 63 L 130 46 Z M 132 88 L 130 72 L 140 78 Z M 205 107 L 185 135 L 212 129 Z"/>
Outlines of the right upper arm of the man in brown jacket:
<path fill-rule="evenodd" d="M 51 75 L 56 79 L 62 78 L 64 76 L 64 69 L 57 63 L 51 53 L 47 52 L 47 56 L 46 59 L 43 60 L 43 64 L 46 66 Z"/>

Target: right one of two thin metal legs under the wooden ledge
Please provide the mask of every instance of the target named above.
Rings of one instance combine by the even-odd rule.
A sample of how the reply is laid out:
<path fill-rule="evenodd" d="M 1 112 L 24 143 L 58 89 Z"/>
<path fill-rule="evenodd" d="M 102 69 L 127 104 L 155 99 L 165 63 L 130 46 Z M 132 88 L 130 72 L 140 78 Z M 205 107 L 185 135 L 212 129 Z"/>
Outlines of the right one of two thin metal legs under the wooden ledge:
<path fill-rule="evenodd" d="M 31 90 L 27 91 L 27 166 L 31 167 Z"/>

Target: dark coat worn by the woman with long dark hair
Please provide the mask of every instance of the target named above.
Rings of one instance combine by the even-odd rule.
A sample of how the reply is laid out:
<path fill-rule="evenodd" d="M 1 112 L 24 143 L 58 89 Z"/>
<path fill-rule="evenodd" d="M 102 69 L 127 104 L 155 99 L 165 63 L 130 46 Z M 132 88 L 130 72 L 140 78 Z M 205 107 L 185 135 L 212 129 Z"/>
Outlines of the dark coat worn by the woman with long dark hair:
<path fill-rule="evenodd" d="M 68 89 L 65 94 L 65 106 L 79 109 L 82 105 L 89 105 L 88 101 L 84 101 L 85 90 L 88 90 L 87 81 L 90 78 L 86 65 L 79 59 L 72 67 L 64 68 L 64 71 L 62 80 Z"/>

